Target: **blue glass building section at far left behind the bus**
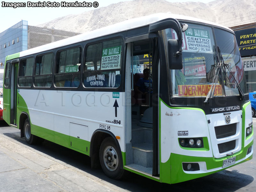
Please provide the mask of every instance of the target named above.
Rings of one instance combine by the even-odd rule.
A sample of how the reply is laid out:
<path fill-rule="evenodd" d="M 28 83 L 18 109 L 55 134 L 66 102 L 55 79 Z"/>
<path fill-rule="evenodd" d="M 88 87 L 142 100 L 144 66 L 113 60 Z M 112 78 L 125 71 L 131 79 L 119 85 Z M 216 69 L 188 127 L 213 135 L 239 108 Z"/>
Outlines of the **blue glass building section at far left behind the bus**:
<path fill-rule="evenodd" d="M 4 65 L 7 55 L 28 49 L 28 21 L 19 23 L 0 33 L 0 63 Z M 0 66 L 3 68 L 4 66 Z"/>

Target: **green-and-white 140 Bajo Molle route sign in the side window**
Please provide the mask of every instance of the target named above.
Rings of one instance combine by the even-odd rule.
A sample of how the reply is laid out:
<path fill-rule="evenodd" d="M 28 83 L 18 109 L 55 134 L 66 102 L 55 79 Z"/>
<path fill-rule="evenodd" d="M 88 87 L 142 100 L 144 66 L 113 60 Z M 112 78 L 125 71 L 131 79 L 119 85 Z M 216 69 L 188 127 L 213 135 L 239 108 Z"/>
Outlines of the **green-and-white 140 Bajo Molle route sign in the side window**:
<path fill-rule="evenodd" d="M 122 46 L 120 45 L 103 49 L 101 57 L 101 70 L 120 68 L 121 48 Z"/>

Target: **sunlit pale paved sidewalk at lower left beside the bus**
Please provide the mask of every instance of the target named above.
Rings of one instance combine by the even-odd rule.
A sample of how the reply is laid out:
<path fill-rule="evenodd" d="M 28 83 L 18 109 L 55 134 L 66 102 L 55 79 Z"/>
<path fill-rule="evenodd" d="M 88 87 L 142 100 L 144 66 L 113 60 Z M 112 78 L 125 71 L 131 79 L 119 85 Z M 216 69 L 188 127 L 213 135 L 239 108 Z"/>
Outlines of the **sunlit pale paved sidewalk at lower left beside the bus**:
<path fill-rule="evenodd" d="M 91 171 L 90 164 L 81 170 L 61 161 L 61 158 L 55 159 L 36 150 L 40 146 L 26 145 L 20 139 L 19 130 L 12 127 L 0 129 L 0 192 L 126 191 L 109 183 L 105 176 L 102 180 L 85 172 L 87 168 Z M 3 129 L 6 129 L 5 133 Z M 103 174 L 101 170 L 92 173 L 100 177 Z"/>

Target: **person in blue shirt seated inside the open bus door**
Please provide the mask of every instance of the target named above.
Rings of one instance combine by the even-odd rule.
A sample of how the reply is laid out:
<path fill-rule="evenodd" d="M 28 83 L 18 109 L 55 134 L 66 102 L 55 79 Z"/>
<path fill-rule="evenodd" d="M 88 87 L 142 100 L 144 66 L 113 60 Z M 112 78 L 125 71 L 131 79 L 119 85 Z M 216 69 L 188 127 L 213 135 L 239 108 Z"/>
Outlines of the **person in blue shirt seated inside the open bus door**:
<path fill-rule="evenodd" d="M 135 84 L 135 91 L 137 93 L 141 93 L 142 95 L 146 95 L 147 93 L 152 93 L 152 80 L 150 79 L 150 89 L 149 89 L 149 69 L 145 68 L 143 70 L 143 78 L 140 78 Z"/>

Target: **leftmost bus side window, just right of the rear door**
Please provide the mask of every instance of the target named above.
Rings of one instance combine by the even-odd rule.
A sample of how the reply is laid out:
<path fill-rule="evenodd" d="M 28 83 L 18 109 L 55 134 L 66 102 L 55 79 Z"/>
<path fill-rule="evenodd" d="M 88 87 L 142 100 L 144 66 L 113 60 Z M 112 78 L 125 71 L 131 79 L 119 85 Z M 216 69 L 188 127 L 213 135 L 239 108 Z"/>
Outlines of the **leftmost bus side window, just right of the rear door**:
<path fill-rule="evenodd" d="M 20 72 L 18 77 L 19 87 L 31 87 L 33 65 L 34 65 L 34 58 L 20 60 L 20 66 L 19 66 Z"/>

